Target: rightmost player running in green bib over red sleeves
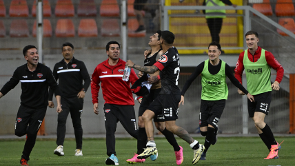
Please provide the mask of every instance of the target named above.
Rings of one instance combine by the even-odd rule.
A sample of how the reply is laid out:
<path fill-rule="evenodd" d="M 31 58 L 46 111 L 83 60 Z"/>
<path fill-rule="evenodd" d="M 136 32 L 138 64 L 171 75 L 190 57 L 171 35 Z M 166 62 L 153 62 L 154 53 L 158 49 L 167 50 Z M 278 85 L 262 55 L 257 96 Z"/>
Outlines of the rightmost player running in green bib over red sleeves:
<path fill-rule="evenodd" d="M 274 55 L 258 46 L 258 33 L 250 30 L 245 34 L 248 49 L 241 52 L 236 62 L 234 75 L 242 83 L 242 74 L 245 69 L 247 90 L 254 95 L 255 102 L 248 101 L 248 112 L 262 141 L 269 149 L 265 159 L 278 158 L 278 149 L 281 148 L 274 139 L 270 127 L 264 122 L 265 115 L 269 112 L 272 100 L 272 90 L 279 90 L 283 79 L 284 69 Z M 276 70 L 276 81 L 270 82 L 270 68 Z M 238 94 L 244 95 L 238 89 Z"/>

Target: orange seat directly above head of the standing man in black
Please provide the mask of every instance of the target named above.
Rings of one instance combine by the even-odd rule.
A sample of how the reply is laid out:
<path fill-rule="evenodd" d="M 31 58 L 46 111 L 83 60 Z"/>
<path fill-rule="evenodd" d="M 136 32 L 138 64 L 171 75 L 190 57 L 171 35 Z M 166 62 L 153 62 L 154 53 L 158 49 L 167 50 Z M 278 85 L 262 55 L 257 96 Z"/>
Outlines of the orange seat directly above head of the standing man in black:
<path fill-rule="evenodd" d="M 59 19 L 55 28 L 56 37 L 74 37 L 74 23 L 71 19 Z"/>

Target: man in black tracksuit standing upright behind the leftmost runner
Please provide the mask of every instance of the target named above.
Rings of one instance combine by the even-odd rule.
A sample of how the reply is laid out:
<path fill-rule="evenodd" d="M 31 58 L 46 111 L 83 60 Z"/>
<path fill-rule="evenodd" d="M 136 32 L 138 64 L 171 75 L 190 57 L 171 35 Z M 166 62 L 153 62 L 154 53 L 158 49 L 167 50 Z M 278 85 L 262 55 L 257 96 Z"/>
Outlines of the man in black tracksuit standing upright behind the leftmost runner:
<path fill-rule="evenodd" d="M 72 43 L 63 43 L 61 54 L 63 54 L 63 60 L 56 63 L 53 69 L 55 80 L 59 80 L 61 107 L 63 108 L 63 112 L 57 116 L 57 149 L 54 149 L 54 154 L 59 156 L 65 155 L 63 152 L 65 123 L 67 122 L 69 113 L 71 113 L 74 136 L 76 138 L 76 153 L 74 155 L 83 156 L 81 118 L 84 103 L 83 98 L 90 85 L 90 76 L 83 61 L 74 58 L 74 45 Z M 48 100 L 49 107 L 54 107 L 51 89 Z"/>

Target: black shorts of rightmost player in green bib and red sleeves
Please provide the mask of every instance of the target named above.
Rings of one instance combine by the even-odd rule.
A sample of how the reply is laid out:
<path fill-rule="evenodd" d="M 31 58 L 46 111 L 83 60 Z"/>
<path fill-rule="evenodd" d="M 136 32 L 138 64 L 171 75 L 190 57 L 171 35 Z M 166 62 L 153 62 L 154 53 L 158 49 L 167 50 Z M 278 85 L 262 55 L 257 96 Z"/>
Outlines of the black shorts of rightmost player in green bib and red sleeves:
<path fill-rule="evenodd" d="M 264 92 L 254 96 L 254 102 L 251 102 L 248 98 L 248 113 L 249 117 L 254 117 L 255 112 L 262 112 L 268 114 L 270 102 L 272 101 L 272 91 Z"/>

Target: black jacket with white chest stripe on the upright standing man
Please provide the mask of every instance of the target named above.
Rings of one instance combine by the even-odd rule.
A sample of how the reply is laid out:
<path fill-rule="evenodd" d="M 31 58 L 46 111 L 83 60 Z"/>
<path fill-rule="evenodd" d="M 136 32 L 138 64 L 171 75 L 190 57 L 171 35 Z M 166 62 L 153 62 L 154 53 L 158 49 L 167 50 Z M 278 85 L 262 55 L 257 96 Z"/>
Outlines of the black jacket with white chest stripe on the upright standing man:
<path fill-rule="evenodd" d="M 83 61 L 79 61 L 74 57 L 67 64 L 65 60 L 61 60 L 54 65 L 53 76 L 59 80 L 61 96 L 74 97 L 84 89 L 88 90 L 90 85 L 90 76 Z M 84 80 L 84 85 L 83 85 Z M 49 101 L 52 101 L 52 90 L 49 91 Z"/>

